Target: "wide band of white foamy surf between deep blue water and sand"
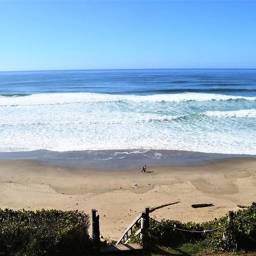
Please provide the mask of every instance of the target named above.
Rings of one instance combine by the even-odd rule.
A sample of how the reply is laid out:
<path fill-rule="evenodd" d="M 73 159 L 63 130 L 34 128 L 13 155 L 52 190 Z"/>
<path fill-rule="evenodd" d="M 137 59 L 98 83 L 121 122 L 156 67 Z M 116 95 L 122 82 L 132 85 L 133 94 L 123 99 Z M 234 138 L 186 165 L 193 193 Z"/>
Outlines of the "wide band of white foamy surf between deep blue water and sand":
<path fill-rule="evenodd" d="M 153 148 L 256 155 L 255 100 L 203 93 L 0 97 L 0 151 Z"/>

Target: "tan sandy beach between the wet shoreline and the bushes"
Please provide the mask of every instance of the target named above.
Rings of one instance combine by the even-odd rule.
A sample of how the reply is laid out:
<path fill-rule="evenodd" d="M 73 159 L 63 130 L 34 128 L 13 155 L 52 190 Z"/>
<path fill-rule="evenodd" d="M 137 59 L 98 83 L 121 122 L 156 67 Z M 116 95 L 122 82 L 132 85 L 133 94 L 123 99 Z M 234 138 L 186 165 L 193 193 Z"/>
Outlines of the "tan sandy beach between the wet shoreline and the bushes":
<path fill-rule="evenodd" d="M 79 209 L 100 214 L 101 235 L 118 240 L 144 207 L 157 220 L 208 221 L 256 201 L 256 159 L 222 159 L 205 166 L 82 170 L 30 160 L 0 160 L 0 208 Z M 193 209 L 191 204 L 213 203 Z"/>

